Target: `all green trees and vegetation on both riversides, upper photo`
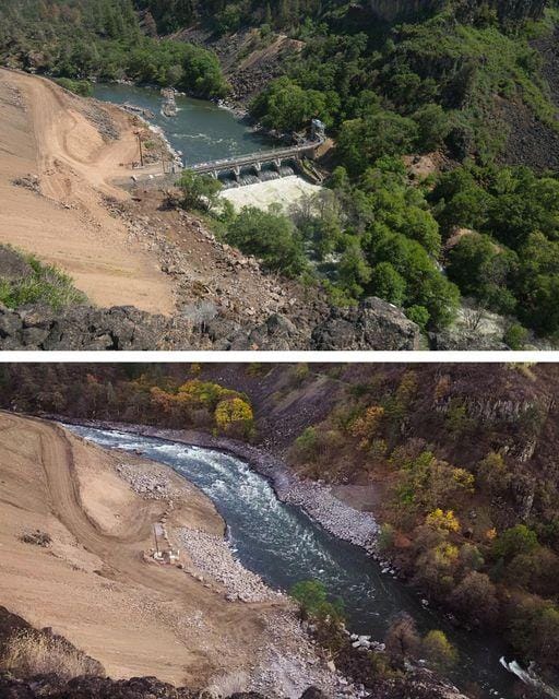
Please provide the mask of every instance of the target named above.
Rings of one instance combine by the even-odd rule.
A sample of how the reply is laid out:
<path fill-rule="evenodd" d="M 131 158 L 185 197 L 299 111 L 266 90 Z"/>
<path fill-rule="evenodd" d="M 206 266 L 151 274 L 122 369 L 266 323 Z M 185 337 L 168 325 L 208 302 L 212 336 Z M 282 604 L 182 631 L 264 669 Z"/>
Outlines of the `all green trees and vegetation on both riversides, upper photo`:
<path fill-rule="evenodd" d="M 250 54 L 288 34 L 300 51 L 247 107 L 278 133 L 326 123 L 328 189 L 288 215 L 210 206 L 223 239 L 337 306 L 378 296 L 437 332 L 467 297 L 510 318 L 513 348 L 525 328 L 555 340 L 557 3 L 426 1 L 404 17 L 390 4 L 8 2 L 0 56 L 82 94 L 91 78 L 129 79 L 215 98 L 228 92 L 215 54 L 159 36 L 251 31 Z M 182 189 L 195 210 L 216 193 L 193 178 Z"/>

